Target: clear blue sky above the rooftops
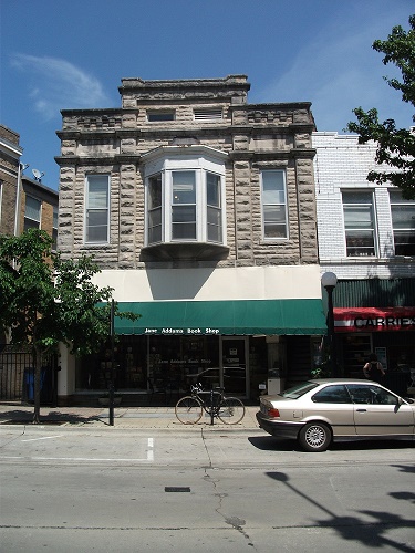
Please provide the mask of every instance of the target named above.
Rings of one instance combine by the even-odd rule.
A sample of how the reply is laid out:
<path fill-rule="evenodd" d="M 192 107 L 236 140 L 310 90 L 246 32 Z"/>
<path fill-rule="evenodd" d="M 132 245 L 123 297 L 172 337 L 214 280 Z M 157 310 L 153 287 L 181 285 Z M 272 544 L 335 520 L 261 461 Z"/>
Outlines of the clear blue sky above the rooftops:
<path fill-rule="evenodd" d="M 409 127 L 372 50 L 408 28 L 413 0 L 0 0 L 0 122 L 22 161 L 58 189 L 60 109 L 120 107 L 121 79 L 241 73 L 249 102 L 312 102 L 319 131 L 343 132 L 353 107 Z"/>

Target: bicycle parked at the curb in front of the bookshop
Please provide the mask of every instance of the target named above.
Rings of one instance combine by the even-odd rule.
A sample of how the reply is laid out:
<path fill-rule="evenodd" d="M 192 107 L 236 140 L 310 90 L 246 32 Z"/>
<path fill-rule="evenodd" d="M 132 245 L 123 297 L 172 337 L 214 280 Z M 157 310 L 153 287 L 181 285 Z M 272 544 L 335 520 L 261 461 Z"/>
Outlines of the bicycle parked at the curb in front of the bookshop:
<path fill-rule="evenodd" d="M 210 424 L 218 418 L 225 425 L 237 425 L 245 416 L 245 405 L 238 397 L 225 396 L 224 388 L 204 390 L 200 384 L 190 386 L 190 396 L 181 397 L 175 413 L 184 425 L 196 425 L 204 413 L 210 416 Z"/>

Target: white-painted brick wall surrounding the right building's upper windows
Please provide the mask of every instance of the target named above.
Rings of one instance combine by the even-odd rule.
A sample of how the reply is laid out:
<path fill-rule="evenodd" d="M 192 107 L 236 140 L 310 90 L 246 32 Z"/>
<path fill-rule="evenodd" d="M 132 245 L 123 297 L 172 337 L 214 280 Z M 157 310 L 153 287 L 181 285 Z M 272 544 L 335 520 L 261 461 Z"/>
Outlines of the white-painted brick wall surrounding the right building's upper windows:
<path fill-rule="evenodd" d="M 388 187 L 366 179 L 370 170 L 380 170 L 375 164 L 375 144 L 360 145 L 356 135 L 338 133 L 313 133 L 312 144 L 317 150 L 314 179 L 322 269 L 335 272 L 341 279 L 413 276 L 413 260 L 393 255 Z M 376 258 L 346 257 L 341 191 L 352 189 L 374 192 Z"/>

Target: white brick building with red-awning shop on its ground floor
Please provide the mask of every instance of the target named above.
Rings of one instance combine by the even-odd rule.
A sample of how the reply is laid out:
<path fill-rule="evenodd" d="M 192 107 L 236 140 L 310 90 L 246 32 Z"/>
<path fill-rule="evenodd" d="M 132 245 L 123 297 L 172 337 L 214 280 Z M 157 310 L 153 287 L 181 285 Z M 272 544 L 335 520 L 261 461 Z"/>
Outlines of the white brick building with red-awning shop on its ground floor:
<path fill-rule="evenodd" d="M 315 132 L 312 145 L 320 264 L 339 279 L 334 313 L 343 369 L 360 374 L 375 349 L 391 371 L 401 355 L 415 366 L 415 201 L 367 181 L 369 171 L 378 170 L 374 143 Z"/>

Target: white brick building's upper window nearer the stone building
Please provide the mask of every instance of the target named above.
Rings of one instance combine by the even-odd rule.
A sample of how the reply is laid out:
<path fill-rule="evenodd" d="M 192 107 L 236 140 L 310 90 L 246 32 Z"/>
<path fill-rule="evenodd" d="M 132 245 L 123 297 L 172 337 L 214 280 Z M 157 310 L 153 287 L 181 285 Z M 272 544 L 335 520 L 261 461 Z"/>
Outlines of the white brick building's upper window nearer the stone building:
<path fill-rule="evenodd" d="M 376 255 L 375 219 L 371 191 L 343 191 L 347 257 Z"/>

